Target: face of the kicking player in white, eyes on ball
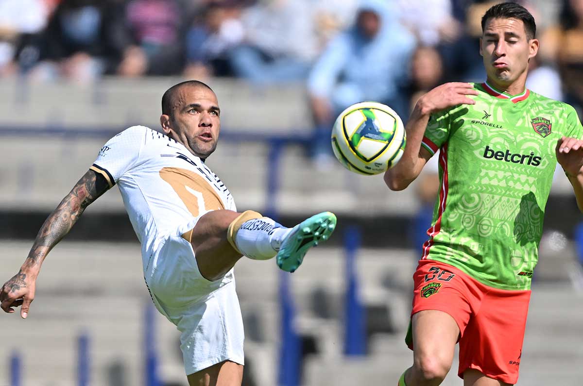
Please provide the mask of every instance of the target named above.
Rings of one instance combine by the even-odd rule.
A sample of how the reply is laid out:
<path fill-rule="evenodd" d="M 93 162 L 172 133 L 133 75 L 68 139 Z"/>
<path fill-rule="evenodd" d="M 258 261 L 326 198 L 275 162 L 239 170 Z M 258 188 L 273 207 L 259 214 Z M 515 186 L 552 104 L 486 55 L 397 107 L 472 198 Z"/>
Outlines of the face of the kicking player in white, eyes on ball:
<path fill-rule="evenodd" d="M 164 132 L 182 143 L 194 155 L 206 158 L 217 147 L 220 131 L 220 109 L 215 93 L 206 87 L 184 86 L 176 93 L 172 117 Z"/>

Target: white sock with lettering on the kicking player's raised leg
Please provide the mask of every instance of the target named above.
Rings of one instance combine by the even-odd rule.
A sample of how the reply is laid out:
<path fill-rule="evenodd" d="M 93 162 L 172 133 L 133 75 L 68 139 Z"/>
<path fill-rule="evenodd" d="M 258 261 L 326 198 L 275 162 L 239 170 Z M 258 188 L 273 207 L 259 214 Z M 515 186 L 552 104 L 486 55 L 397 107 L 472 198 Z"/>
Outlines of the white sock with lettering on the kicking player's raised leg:
<path fill-rule="evenodd" d="M 291 231 L 269 217 L 252 219 L 241 224 L 235 237 L 237 248 L 248 258 L 271 259 L 278 254 L 283 239 Z"/>

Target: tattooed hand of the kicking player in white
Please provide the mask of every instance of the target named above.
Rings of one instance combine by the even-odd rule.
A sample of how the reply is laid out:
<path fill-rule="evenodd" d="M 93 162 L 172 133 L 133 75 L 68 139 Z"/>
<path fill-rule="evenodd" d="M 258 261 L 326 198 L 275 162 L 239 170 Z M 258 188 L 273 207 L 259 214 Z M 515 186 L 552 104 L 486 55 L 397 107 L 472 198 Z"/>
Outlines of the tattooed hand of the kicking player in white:
<path fill-rule="evenodd" d="M 0 291 L 0 302 L 4 312 L 12 314 L 15 310 L 12 307 L 20 308 L 20 316 L 26 319 L 29 313 L 30 303 L 34 300 L 34 286 L 36 278 L 30 274 L 19 271 L 12 279 L 4 283 Z"/>

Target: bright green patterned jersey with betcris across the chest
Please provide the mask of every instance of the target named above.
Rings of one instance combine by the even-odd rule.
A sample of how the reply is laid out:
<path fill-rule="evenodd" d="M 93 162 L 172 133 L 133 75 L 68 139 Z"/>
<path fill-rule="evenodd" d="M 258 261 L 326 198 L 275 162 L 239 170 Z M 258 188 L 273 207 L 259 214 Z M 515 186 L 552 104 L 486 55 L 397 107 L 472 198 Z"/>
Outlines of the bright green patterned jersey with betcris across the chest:
<path fill-rule="evenodd" d="M 441 190 L 423 258 L 480 282 L 530 289 L 561 136 L 583 138 L 574 108 L 528 89 L 475 84 L 476 104 L 433 114 L 422 146 L 440 150 Z"/>

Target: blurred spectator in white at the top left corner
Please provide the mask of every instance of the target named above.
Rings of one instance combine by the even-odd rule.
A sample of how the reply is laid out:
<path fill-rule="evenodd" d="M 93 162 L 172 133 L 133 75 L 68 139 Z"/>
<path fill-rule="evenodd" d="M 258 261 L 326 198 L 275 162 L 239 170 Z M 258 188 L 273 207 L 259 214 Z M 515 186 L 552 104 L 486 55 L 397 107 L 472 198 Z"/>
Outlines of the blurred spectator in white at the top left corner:
<path fill-rule="evenodd" d="M 44 29 L 50 9 L 44 0 L 0 0 L 0 76 L 17 71 L 17 47 Z M 38 51 L 31 54 L 38 60 Z"/>

